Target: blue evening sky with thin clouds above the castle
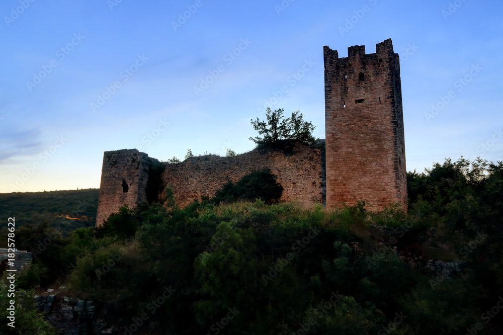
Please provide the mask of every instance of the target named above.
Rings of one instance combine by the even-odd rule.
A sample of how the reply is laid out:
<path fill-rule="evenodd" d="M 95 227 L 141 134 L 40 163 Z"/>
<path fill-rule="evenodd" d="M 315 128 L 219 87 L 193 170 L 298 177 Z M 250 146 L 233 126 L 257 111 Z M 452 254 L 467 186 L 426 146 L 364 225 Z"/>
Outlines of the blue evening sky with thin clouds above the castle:
<path fill-rule="evenodd" d="M 388 38 L 407 171 L 503 160 L 502 10 L 488 0 L 4 0 L 0 193 L 99 188 L 109 150 L 164 161 L 188 148 L 246 152 L 267 106 L 300 110 L 324 138 L 323 46 L 346 57 Z"/>

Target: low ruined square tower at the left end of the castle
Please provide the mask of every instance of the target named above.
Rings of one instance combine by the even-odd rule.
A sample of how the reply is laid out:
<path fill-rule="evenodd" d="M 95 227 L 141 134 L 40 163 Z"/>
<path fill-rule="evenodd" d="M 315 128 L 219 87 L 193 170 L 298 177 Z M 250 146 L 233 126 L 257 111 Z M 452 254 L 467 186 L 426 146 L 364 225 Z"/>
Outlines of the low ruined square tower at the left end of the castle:
<path fill-rule="evenodd" d="M 127 204 L 135 208 L 137 202 L 145 202 L 148 174 L 152 166 L 160 165 L 137 149 L 105 151 L 101 172 L 100 197 L 96 225 L 100 226 L 110 214 Z"/>

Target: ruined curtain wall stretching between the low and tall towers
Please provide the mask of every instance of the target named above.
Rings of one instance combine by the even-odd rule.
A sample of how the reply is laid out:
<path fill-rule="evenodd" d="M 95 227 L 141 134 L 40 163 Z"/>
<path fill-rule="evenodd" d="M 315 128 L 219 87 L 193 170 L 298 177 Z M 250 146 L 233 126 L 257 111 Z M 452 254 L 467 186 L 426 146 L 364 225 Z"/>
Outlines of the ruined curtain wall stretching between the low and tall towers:
<path fill-rule="evenodd" d="M 322 149 L 292 144 L 284 149 L 255 149 L 235 157 L 207 155 L 166 164 L 162 180 L 172 185 L 180 206 L 201 196 L 213 197 L 228 181 L 254 170 L 270 169 L 283 188 L 282 200 L 302 205 L 322 202 Z"/>

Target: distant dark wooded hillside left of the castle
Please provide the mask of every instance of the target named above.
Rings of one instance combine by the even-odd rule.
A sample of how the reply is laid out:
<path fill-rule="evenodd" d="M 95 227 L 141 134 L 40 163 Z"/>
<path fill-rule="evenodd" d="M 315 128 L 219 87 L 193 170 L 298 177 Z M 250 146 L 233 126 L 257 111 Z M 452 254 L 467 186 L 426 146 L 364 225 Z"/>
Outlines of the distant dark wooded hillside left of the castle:
<path fill-rule="evenodd" d="M 16 218 L 16 227 L 38 225 L 45 220 L 64 234 L 80 227 L 94 226 L 99 189 L 16 192 L 0 194 L 0 218 Z M 6 227 L 0 232 L 4 233 Z"/>

